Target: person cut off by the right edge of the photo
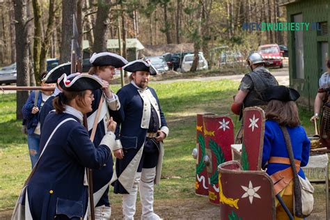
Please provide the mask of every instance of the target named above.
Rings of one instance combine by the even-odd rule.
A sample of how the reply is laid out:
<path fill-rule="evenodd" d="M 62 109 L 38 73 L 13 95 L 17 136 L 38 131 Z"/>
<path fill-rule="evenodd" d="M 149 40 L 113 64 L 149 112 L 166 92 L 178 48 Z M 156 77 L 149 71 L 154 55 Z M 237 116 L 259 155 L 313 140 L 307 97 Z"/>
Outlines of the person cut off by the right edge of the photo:
<path fill-rule="evenodd" d="M 311 121 L 319 119 L 322 107 L 320 142 L 322 146 L 330 149 L 330 60 L 327 61 L 327 68 L 328 71 L 324 72 L 319 80 L 319 89 L 314 102 L 314 116 L 312 116 Z"/>

